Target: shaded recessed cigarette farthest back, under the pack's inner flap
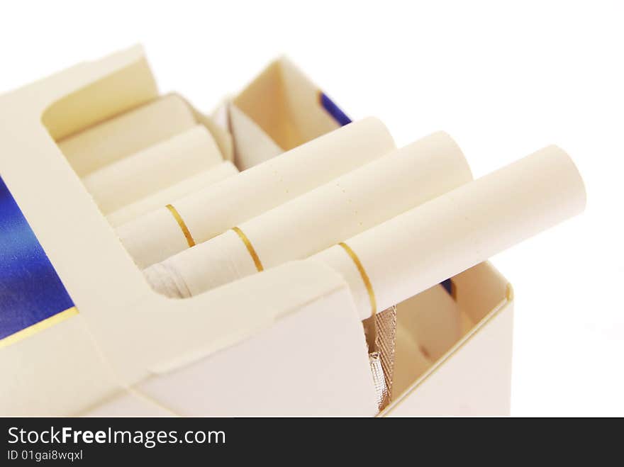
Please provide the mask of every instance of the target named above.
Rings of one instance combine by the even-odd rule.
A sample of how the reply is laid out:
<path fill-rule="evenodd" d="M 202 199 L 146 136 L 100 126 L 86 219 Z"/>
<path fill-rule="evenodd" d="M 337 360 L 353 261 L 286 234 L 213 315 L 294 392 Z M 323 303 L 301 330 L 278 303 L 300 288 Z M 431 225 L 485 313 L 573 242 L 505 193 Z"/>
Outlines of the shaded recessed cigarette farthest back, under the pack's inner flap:
<path fill-rule="evenodd" d="M 189 106 L 167 96 L 66 137 L 58 146 L 74 171 L 85 176 L 195 124 Z"/>

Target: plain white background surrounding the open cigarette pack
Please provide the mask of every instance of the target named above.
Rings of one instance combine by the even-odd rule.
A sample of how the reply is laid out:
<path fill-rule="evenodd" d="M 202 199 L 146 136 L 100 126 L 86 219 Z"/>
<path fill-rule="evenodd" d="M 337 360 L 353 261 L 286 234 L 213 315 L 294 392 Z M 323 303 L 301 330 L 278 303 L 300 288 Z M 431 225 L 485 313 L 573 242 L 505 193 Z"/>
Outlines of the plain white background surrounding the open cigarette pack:
<path fill-rule="evenodd" d="M 399 145 L 447 130 L 475 176 L 560 145 L 586 212 L 493 260 L 516 292 L 513 415 L 624 415 L 620 5 L 5 2 L 0 91 L 143 43 L 161 90 L 210 111 L 284 53 Z"/>

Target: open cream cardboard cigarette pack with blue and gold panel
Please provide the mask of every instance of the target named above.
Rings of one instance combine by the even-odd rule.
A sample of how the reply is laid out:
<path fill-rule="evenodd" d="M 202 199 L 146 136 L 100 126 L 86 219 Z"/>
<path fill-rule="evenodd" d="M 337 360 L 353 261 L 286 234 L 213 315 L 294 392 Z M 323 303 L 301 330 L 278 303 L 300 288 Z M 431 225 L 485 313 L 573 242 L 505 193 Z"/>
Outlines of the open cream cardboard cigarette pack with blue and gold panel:
<path fill-rule="evenodd" d="M 165 120 L 155 106 L 167 106 Z M 120 133 L 119 116 L 134 119 L 131 136 L 106 133 Z M 159 94 L 141 47 L 1 96 L 0 415 L 508 414 L 513 292 L 489 262 L 396 304 L 391 402 L 380 411 L 340 274 L 289 261 L 167 298 L 89 189 L 104 167 L 197 125 L 215 164 L 243 171 L 349 121 L 286 59 L 204 115 Z"/>

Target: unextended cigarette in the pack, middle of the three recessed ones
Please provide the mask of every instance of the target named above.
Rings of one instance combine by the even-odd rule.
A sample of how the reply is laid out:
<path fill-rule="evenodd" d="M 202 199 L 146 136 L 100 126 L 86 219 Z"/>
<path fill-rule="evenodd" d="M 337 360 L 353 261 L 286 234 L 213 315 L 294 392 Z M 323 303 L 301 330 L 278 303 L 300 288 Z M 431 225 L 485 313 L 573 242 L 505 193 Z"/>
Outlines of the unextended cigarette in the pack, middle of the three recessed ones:
<path fill-rule="evenodd" d="M 223 162 L 202 125 L 108 164 L 82 179 L 104 214 L 157 193 Z"/>

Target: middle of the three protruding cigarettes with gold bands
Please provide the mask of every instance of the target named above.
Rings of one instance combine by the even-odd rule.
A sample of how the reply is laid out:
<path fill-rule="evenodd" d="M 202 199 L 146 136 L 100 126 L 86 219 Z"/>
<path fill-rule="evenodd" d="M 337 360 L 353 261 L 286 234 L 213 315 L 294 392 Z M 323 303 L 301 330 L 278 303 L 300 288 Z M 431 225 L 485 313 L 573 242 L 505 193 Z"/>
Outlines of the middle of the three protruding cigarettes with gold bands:
<path fill-rule="evenodd" d="M 154 264 L 145 276 L 161 293 L 194 296 L 304 259 L 470 180 L 459 147 L 434 133 Z"/>

